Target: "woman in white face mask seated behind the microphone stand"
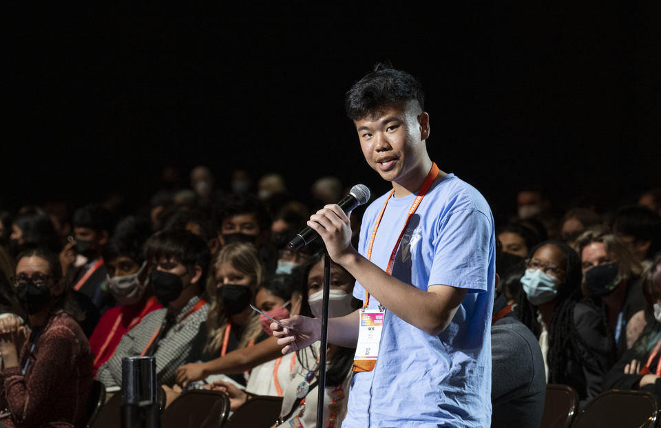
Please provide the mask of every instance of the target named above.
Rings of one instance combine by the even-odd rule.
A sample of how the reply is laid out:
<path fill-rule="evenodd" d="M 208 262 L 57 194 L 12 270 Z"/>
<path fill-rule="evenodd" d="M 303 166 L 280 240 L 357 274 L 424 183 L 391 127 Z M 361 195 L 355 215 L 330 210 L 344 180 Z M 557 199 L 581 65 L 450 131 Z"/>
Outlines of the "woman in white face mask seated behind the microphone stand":
<path fill-rule="evenodd" d="M 322 292 L 324 277 L 324 255 L 319 254 L 306 264 L 305 277 L 307 290 L 303 294 L 300 314 L 306 317 L 320 315 L 320 306 L 315 303 L 316 295 Z M 342 266 L 333 264 L 330 271 L 329 316 L 344 317 L 355 310 L 347 306 L 348 297 L 352 297 L 355 279 Z M 311 301 L 312 299 L 312 301 Z M 284 323 L 287 319 L 282 320 Z M 342 427 L 346 416 L 346 403 L 351 381 L 351 367 L 355 349 L 328 345 L 326 362 L 326 394 L 324 400 L 324 427 Z M 319 342 L 296 352 L 291 381 L 284 392 L 282 411 L 277 426 L 315 427 L 317 423 L 317 388 L 319 374 Z M 214 383 L 217 389 L 229 395 L 234 406 L 241 405 L 249 394 L 227 383 Z M 304 404 L 304 406 L 302 406 Z M 302 422 L 302 425 L 301 425 Z M 296 424 L 300 425 L 296 425 Z"/>

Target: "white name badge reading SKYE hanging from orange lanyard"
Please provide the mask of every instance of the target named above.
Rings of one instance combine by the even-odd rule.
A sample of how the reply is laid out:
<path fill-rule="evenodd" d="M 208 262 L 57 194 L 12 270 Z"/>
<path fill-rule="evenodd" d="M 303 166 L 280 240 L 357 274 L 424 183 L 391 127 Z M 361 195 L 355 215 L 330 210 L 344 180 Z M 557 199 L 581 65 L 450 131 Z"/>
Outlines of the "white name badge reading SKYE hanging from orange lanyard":
<path fill-rule="evenodd" d="M 354 372 L 371 372 L 377 365 L 385 315 L 385 310 L 360 310 L 358 345 L 356 346 L 356 356 L 353 358 Z"/>

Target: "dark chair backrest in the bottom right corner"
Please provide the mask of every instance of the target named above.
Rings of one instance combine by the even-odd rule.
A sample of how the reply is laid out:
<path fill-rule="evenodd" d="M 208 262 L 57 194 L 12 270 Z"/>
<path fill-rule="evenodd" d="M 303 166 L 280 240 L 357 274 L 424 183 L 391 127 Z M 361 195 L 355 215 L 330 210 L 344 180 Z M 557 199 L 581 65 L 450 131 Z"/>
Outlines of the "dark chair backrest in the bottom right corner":
<path fill-rule="evenodd" d="M 587 403 L 571 428 L 652 428 L 656 426 L 658 413 L 659 399 L 655 394 L 610 389 Z"/>

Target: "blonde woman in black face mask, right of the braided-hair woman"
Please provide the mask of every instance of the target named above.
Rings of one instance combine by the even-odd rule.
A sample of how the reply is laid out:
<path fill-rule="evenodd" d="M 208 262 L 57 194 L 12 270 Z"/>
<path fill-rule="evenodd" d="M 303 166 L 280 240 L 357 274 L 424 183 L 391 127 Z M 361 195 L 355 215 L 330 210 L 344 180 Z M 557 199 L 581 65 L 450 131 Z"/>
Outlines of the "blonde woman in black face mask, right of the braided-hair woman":
<path fill-rule="evenodd" d="M 640 264 L 622 239 L 604 230 L 583 233 L 575 246 L 585 291 L 601 306 L 620 357 L 633 346 L 646 323 Z"/>

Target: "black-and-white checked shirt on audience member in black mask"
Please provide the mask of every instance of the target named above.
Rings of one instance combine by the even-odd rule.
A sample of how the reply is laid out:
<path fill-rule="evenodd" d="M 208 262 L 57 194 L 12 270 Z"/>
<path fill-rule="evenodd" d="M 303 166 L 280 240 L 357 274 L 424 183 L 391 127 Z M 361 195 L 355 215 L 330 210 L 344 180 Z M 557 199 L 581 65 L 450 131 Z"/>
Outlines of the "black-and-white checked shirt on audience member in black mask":
<path fill-rule="evenodd" d="M 186 317 L 186 314 L 198 301 L 200 301 L 200 297 L 196 296 L 189 300 L 181 310 L 174 311 L 168 307 L 145 315 L 138 325 L 122 337 L 112 358 L 98 368 L 98 372 L 96 372 L 98 381 L 103 382 L 106 387 L 121 386 L 122 358 L 140 355 L 147 347 L 149 339 L 154 336 L 168 315 L 174 317 L 174 325 L 167 330 L 165 337 L 158 341 L 158 349 L 154 356 L 156 357 L 158 385 L 173 386 L 177 367 L 200 359 L 204 341 L 207 339 L 205 323 L 209 303 Z"/>

